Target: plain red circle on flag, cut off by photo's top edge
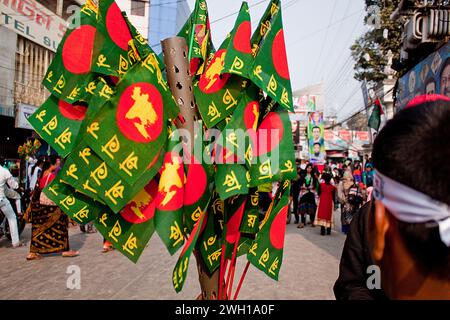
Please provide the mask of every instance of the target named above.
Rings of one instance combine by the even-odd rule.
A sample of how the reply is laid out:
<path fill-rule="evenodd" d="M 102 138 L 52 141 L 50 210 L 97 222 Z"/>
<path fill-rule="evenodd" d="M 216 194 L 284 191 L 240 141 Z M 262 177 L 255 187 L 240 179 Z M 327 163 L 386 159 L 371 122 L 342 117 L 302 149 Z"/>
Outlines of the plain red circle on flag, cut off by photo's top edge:
<path fill-rule="evenodd" d="M 130 30 L 115 2 L 106 13 L 106 29 L 111 40 L 122 50 L 128 50 L 128 42 L 132 39 Z"/>

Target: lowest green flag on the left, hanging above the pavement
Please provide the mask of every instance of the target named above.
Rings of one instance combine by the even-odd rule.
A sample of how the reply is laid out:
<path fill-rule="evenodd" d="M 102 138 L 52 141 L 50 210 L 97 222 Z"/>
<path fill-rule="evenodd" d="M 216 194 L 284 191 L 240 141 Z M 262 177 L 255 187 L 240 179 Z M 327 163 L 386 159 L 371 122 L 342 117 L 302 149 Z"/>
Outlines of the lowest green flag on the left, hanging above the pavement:
<path fill-rule="evenodd" d="M 155 231 L 157 189 L 158 184 L 151 180 L 120 214 L 105 212 L 95 221 L 95 227 L 102 236 L 134 263 Z"/>

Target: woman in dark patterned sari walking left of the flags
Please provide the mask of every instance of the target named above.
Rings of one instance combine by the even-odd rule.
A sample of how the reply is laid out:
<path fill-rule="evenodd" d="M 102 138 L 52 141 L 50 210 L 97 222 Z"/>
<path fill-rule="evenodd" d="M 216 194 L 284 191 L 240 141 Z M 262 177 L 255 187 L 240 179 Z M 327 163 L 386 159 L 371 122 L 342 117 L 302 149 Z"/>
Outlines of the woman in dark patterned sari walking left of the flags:
<path fill-rule="evenodd" d="M 60 253 L 63 257 L 78 256 L 69 250 L 68 217 L 49 200 L 42 190 L 55 178 L 56 157 L 45 161 L 31 198 L 31 243 L 27 260 L 42 258 L 41 254 Z M 42 194 L 42 196 L 41 196 Z"/>

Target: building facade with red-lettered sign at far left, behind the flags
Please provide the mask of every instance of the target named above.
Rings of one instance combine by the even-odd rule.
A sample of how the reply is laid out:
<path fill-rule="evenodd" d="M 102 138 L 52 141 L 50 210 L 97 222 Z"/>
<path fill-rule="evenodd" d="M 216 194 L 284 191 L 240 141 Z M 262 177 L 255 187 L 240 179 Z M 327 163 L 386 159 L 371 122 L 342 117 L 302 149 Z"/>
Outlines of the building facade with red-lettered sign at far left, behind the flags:
<path fill-rule="evenodd" d="M 26 118 L 48 97 L 42 86 L 81 0 L 0 0 L 0 156 L 17 157 L 33 134 Z"/>

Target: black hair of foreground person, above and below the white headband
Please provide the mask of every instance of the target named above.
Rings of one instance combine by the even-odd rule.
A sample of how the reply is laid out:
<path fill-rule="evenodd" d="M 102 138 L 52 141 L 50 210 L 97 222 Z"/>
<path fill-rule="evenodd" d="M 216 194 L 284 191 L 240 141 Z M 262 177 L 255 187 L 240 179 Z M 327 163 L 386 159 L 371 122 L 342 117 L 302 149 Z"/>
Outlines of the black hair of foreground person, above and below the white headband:
<path fill-rule="evenodd" d="M 391 179 L 450 205 L 449 123 L 450 102 L 444 100 L 400 111 L 375 140 L 374 167 Z M 450 248 L 442 242 L 437 223 L 397 220 L 397 224 L 419 270 L 450 281 Z"/>

